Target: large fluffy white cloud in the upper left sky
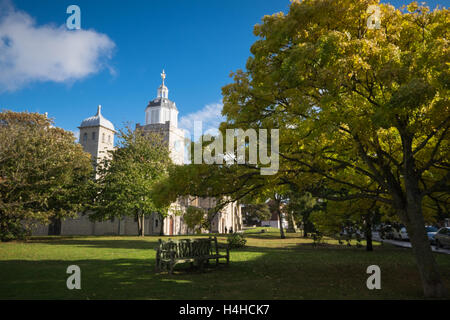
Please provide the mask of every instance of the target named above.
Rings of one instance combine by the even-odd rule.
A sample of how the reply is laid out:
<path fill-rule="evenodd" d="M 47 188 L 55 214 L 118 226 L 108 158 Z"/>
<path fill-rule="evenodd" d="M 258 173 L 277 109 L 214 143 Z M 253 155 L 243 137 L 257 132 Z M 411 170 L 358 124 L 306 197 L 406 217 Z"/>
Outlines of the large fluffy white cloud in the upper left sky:
<path fill-rule="evenodd" d="M 0 0 L 0 92 L 35 81 L 70 82 L 103 68 L 114 42 L 93 30 L 36 25 L 26 12 Z"/>

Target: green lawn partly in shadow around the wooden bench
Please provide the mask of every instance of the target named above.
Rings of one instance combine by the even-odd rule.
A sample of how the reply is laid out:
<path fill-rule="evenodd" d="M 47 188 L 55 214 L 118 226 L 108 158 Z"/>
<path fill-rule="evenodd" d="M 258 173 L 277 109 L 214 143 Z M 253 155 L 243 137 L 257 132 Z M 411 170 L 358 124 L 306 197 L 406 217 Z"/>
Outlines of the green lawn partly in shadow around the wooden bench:
<path fill-rule="evenodd" d="M 268 229 L 268 228 L 265 228 Z M 160 237 L 41 237 L 0 243 L 0 299 L 420 299 L 410 249 L 376 245 L 313 247 L 276 230 L 247 232 L 247 247 L 231 252 L 229 267 L 204 273 L 177 266 L 156 274 Z M 184 237 L 183 237 L 184 238 Z M 225 237 L 220 237 L 225 242 Z M 450 289 L 450 255 L 436 254 Z M 66 268 L 81 268 L 81 290 L 66 288 Z M 381 268 L 381 290 L 366 288 L 366 268 Z"/>

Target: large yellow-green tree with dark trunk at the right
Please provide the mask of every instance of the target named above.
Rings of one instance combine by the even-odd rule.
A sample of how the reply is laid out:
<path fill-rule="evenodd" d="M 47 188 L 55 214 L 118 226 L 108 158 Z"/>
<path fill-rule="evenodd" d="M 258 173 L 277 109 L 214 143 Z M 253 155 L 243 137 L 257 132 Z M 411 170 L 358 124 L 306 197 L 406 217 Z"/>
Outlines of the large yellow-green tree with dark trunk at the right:
<path fill-rule="evenodd" d="M 372 4 L 294 1 L 286 15 L 265 16 L 247 70 L 223 88 L 222 128 L 279 128 L 281 180 L 390 206 L 425 296 L 442 297 L 423 207 L 450 188 L 449 11 L 379 4 L 381 27 L 369 29 Z"/>

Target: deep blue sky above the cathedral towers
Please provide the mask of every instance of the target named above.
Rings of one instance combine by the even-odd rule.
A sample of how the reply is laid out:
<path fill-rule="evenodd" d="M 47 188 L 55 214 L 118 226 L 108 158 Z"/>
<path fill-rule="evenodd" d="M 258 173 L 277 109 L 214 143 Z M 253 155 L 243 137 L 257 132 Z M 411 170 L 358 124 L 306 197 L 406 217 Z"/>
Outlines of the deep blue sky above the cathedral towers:
<path fill-rule="evenodd" d="M 390 1 L 395 6 L 408 2 Z M 289 3 L 0 0 L 0 39 L 2 28 L 17 25 L 17 34 L 21 34 L 21 26 L 26 25 L 24 30 L 31 33 L 22 34 L 29 35 L 27 43 L 36 43 L 23 49 L 28 53 L 20 60 L 30 70 L 4 73 L 12 83 L 7 89 L 5 84 L 1 87 L 0 70 L 0 109 L 48 112 L 57 126 L 72 131 L 84 118 L 96 113 L 98 104 L 116 127 L 124 122 L 143 123 L 145 107 L 156 96 L 164 68 L 169 98 L 177 103 L 179 119 L 186 122 L 197 116 L 214 126 L 220 121 L 221 87 L 231 81 L 230 72 L 245 67 L 250 46 L 256 40 L 253 26 L 266 14 L 286 12 Z M 444 0 L 427 3 L 431 7 L 446 4 Z M 81 27 L 86 31 L 77 39 L 80 45 L 74 47 L 61 35 L 66 32 L 62 29 L 69 16 L 66 8 L 71 4 L 81 8 Z M 8 10 L 15 15 L 15 24 L 2 25 Z M 36 29 L 39 32 L 33 33 Z M 43 50 L 40 46 L 46 43 L 51 46 Z M 84 60 L 60 72 L 45 67 L 46 57 L 56 51 L 62 52 L 63 56 L 57 57 L 61 61 L 80 52 L 94 52 L 94 56 L 81 54 Z M 33 62 L 36 60 L 30 57 L 36 56 L 43 62 Z M 23 73 L 31 80 L 21 79 Z"/>

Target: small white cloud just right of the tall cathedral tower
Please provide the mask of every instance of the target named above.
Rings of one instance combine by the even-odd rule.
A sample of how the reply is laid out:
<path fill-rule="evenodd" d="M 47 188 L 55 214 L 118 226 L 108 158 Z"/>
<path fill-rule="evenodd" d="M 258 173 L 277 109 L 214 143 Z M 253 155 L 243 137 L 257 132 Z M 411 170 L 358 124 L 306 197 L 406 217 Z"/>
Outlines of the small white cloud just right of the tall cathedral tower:
<path fill-rule="evenodd" d="M 222 103 L 212 103 L 203 109 L 181 117 L 178 127 L 187 130 L 191 136 L 194 134 L 194 121 L 202 122 L 203 133 L 216 135 L 221 122 L 225 120 L 222 116 Z"/>

